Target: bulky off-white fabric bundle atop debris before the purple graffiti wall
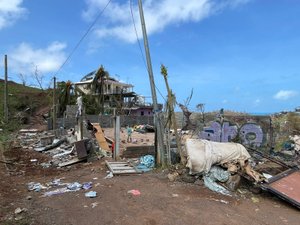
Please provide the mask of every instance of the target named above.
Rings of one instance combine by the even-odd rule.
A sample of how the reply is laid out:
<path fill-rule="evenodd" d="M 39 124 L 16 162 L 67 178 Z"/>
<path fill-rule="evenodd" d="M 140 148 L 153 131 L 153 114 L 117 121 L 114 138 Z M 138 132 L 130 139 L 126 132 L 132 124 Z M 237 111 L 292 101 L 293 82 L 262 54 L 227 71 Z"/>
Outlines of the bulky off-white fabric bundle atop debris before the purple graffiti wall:
<path fill-rule="evenodd" d="M 186 139 L 187 167 L 190 173 L 208 173 L 212 165 L 244 162 L 251 156 L 246 148 L 238 143 L 213 142 L 203 139 Z"/>

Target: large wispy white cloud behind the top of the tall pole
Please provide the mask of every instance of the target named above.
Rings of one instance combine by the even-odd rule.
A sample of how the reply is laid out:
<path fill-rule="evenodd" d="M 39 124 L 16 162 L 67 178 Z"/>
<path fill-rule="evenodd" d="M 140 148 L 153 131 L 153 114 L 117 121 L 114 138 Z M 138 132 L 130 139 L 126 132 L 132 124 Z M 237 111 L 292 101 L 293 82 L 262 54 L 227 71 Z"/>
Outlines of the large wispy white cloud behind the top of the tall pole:
<path fill-rule="evenodd" d="M 235 8 L 249 0 L 145 0 L 143 9 L 146 20 L 147 34 L 151 35 L 161 32 L 164 28 L 172 24 L 185 22 L 199 22 L 206 17 L 223 10 L 224 8 Z M 82 13 L 82 17 L 87 21 L 92 21 L 99 10 L 102 10 L 107 0 L 86 0 L 87 9 Z M 99 38 L 116 37 L 123 41 L 133 43 L 136 35 L 130 14 L 130 1 L 126 3 L 112 2 L 105 10 L 103 16 L 108 20 L 106 24 L 99 20 L 101 24 L 95 29 L 95 34 Z M 139 38 L 142 37 L 140 16 L 138 6 L 132 6 L 133 16 L 137 27 Z"/>

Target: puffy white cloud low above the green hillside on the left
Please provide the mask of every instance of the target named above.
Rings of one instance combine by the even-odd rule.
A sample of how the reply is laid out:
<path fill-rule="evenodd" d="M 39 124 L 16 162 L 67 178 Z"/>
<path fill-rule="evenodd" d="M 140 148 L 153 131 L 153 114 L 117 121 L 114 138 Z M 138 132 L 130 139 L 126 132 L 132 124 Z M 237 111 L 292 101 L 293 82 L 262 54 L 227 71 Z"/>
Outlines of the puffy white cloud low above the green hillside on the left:
<path fill-rule="evenodd" d="M 15 73 L 31 74 L 37 67 L 41 73 L 56 72 L 66 59 L 65 43 L 53 42 L 46 48 L 33 48 L 21 43 L 10 54 L 10 68 Z"/>

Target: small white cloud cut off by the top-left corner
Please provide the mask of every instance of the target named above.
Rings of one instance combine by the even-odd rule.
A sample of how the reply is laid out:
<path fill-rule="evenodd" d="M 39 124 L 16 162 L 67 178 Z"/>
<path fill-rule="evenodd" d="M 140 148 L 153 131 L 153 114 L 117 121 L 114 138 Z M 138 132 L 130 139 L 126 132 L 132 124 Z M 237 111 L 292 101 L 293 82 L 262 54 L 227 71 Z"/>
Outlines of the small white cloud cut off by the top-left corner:
<path fill-rule="evenodd" d="M 23 0 L 0 0 L 0 30 L 12 25 L 27 10 L 21 7 Z"/>

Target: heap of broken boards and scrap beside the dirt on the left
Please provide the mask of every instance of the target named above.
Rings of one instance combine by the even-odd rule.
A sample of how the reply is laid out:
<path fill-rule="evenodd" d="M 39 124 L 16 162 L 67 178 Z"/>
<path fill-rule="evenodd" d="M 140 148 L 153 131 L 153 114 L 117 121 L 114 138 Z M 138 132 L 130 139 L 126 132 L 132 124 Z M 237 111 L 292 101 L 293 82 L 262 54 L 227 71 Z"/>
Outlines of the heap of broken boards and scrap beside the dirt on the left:
<path fill-rule="evenodd" d="M 43 168 L 62 167 L 87 160 L 93 156 L 106 156 L 93 139 L 77 141 L 74 129 L 59 131 L 20 130 L 17 135 L 18 144 L 51 157 L 49 162 L 40 163 Z M 79 144 L 78 144 L 79 143 Z M 34 160 L 34 159 L 32 159 Z"/>

